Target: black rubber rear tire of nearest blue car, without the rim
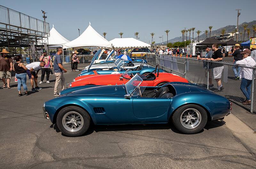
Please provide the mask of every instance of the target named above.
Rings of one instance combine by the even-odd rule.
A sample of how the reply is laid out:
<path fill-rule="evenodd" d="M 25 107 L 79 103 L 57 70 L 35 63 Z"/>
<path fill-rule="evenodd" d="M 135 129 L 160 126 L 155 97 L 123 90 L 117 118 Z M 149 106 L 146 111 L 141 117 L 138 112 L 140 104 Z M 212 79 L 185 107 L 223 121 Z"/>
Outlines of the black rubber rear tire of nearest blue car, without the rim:
<path fill-rule="evenodd" d="M 194 109 L 198 110 L 201 114 L 200 124 L 196 128 L 193 128 L 193 129 L 188 129 L 188 128 L 183 127 L 180 122 L 180 116 L 181 116 L 182 112 L 188 108 L 194 108 Z M 174 126 L 182 133 L 196 134 L 196 133 L 200 132 L 201 130 L 203 130 L 203 128 L 205 127 L 205 125 L 207 123 L 207 112 L 204 110 L 203 107 L 201 107 L 199 105 L 187 104 L 187 105 L 181 106 L 179 109 L 177 109 L 173 113 L 172 122 L 173 122 Z"/>

